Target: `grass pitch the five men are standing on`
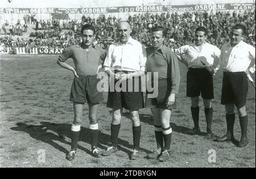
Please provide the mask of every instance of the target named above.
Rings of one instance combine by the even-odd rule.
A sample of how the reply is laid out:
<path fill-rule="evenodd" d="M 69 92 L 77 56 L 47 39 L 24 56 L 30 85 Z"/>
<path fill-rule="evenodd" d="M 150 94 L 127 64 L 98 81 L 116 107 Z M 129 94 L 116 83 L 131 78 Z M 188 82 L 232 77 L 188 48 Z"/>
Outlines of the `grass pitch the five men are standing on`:
<path fill-rule="evenodd" d="M 173 110 L 171 159 L 160 163 L 146 159 L 146 154 L 156 146 L 150 109 L 141 109 L 142 158 L 129 160 L 133 148 L 131 121 L 125 111 L 119 133 L 119 151 L 112 156 L 94 158 L 90 155 L 88 106 L 84 118 L 76 159 L 68 161 L 65 154 L 71 146 L 70 129 L 73 121 L 69 92 L 73 74 L 56 65 L 56 55 L 48 56 L 0 56 L 0 167 L 255 167 L 255 91 L 249 86 L 247 113 L 249 115 L 247 147 L 234 143 L 217 143 L 204 137 L 206 122 L 203 101 L 200 100 L 201 135 L 188 135 L 193 127 L 190 100 L 185 97 L 186 73 L 180 64 L 181 83 L 177 99 L 178 108 Z M 68 63 L 72 64 L 71 60 Z M 254 75 L 255 77 L 255 75 Z M 254 78 L 255 79 L 255 78 Z M 220 105 L 222 73 L 214 76 L 213 131 L 224 135 L 225 110 Z M 105 100 L 98 110 L 100 127 L 99 146 L 105 150 L 110 145 L 112 110 Z M 236 113 L 234 133 L 240 139 L 241 129 Z M 216 163 L 209 163 L 208 151 L 216 151 Z M 42 162 L 45 152 L 45 162 Z"/>

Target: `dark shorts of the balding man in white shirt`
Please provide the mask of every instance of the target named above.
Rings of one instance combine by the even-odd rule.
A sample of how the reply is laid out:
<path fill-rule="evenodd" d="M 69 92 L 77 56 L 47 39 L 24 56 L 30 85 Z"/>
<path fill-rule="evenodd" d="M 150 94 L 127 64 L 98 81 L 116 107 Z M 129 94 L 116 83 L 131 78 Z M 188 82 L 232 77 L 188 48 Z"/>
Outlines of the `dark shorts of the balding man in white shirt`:
<path fill-rule="evenodd" d="M 128 72 L 124 71 L 124 73 Z M 116 84 L 117 82 L 118 80 L 115 80 L 114 84 Z M 118 110 L 122 108 L 125 108 L 127 110 L 139 110 L 141 108 L 144 108 L 143 92 L 141 91 L 141 78 L 138 79 L 138 82 L 138 91 L 134 91 L 134 78 L 124 81 L 123 83 L 126 83 L 126 89 L 120 92 L 117 92 L 116 89 L 114 89 L 113 92 L 109 90 L 107 107 L 112 108 L 113 110 Z M 122 87 L 123 83 L 121 83 L 120 87 Z M 133 88 L 130 89 L 131 84 L 133 84 Z M 112 84 L 110 83 L 110 85 Z M 128 92 L 128 90 L 131 92 Z"/>

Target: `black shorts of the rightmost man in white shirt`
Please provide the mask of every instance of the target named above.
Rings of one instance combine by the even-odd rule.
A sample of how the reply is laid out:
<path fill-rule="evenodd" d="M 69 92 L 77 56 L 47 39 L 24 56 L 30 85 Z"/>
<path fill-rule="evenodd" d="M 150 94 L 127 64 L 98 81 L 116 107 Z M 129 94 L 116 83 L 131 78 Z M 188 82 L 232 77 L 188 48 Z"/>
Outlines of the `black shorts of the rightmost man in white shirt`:
<path fill-rule="evenodd" d="M 221 104 L 246 105 L 248 81 L 245 72 L 224 72 L 222 79 Z"/>

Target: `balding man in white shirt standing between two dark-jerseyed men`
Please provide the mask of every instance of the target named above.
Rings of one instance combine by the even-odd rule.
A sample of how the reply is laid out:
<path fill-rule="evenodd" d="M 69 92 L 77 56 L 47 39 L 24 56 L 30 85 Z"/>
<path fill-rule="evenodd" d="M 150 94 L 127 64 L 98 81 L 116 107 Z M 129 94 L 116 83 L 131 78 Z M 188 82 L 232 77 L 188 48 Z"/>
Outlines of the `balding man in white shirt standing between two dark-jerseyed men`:
<path fill-rule="evenodd" d="M 141 91 L 141 78 L 144 75 L 147 60 L 146 49 L 143 45 L 130 37 L 130 25 L 128 22 L 119 22 L 117 25 L 119 41 L 109 46 L 104 67 L 106 73 L 113 77 L 115 84 L 123 81 L 119 86 L 125 85 L 126 90 L 118 92 L 116 89 L 109 91 L 107 106 L 113 109 L 111 124 L 112 146 L 102 155 L 108 156 L 117 151 L 117 140 L 123 108 L 129 110 L 133 123 L 134 148 L 130 159 L 138 158 L 139 143 L 141 138 L 141 123 L 139 121 L 139 109 L 144 107 L 143 93 Z M 137 78 L 137 80 L 135 80 Z M 129 79 L 129 80 L 128 80 Z M 128 92 L 127 87 L 132 80 L 133 91 Z M 139 81 L 139 91 L 135 91 L 135 81 Z M 129 83 L 128 83 L 129 82 Z M 115 85 L 116 86 L 116 85 Z M 122 86 L 123 87 L 123 86 Z M 111 82 L 110 82 L 111 88 Z M 130 87 L 129 87 L 130 88 Z"/>

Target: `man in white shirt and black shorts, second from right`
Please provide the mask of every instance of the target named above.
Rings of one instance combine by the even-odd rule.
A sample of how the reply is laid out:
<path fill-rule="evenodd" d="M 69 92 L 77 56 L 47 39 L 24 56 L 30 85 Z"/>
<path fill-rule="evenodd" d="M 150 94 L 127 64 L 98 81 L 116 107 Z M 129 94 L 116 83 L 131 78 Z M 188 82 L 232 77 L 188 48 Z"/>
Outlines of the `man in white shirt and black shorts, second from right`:
<path fill-rule="evenodd" d="M 199 127 L 199 96 L 204 101 L 204 112 L 207 121 L 207 138 L 214 137 L 212 133 L 213 108 L 211 100 L 213 95 L 213 75 L 217 72 L 212 69 L 214 59 L 220 57 L 220 49 L 209 44 L 207 39 L 208 30 L 199 27 L 195 31 L 195 42 L 181 46 L 176 51 L 177 58 L 188 67 L 187 73 L 187 97 L 191 97 L 191 113 L 195 127 L 188 131 L 195 135 L 200 133 Z"/>

